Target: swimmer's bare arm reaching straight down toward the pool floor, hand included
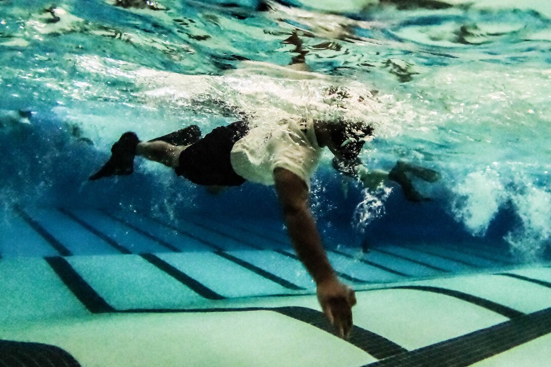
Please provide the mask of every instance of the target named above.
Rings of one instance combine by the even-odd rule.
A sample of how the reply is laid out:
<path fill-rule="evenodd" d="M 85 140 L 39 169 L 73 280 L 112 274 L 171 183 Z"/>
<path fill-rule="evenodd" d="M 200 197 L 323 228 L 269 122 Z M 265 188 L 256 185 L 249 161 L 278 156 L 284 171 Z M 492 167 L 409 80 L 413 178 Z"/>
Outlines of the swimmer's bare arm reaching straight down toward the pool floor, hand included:
<path fill-rule="evenodd" d="M 308 187 L 299 176 L 282 168 L 274 170 L 283 217 L 300 261 L 317 285 L 317 299 L 327 319 L 347 338 L 352 330 L 354 291 L 339 282 L 321 244 L 320 234 L 308 205 Z"/>

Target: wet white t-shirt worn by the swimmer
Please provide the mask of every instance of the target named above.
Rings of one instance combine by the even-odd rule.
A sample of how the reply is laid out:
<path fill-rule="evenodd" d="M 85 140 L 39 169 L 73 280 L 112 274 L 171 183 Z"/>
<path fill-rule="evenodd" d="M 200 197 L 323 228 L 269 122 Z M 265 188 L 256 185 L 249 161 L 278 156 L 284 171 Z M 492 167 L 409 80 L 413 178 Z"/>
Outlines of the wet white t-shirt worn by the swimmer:
<path fill-rule="evenodd" d="M 244 179 L 264 185 L 273 185 L 274 169 L 284 168 L 310 188 L 321 152 L 311 119 L 286 119 L 251 128 L 231 149 L 231 166 Z"/>

